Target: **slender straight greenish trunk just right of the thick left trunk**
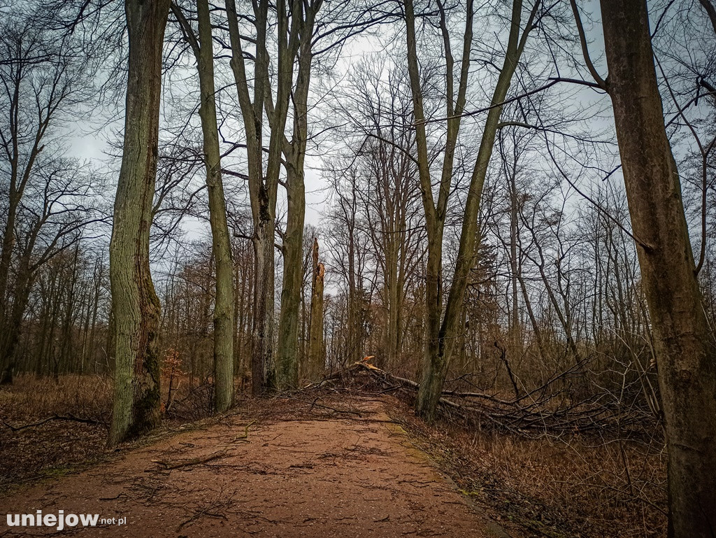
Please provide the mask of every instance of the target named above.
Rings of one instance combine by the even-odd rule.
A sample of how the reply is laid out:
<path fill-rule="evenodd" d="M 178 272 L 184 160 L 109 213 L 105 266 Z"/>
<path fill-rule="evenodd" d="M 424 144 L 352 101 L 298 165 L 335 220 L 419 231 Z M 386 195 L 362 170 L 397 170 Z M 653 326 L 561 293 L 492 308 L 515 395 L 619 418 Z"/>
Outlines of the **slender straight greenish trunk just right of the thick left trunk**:
<path fill-rule="evenodd" d="M 197 55 L 201 91 L 201 130 L 204 140 L 209 223 L 216 264 L 214 297 L 214 410 L 223 413 L 233 405 L 233 261 L 226 221 L 226 200 L 221 179 L 221 156 L 214 97 L 214 57 L 208 0 L 197 0 L 199 48 Z"/>

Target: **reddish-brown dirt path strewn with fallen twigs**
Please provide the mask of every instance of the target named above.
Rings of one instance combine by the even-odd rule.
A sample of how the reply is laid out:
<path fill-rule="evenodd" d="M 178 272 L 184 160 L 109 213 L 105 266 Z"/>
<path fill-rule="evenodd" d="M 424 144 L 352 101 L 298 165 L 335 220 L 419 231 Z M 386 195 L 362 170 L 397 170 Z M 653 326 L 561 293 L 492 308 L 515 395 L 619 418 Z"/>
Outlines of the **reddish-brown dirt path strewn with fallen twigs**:
<path fill-rule="evenodd" d="M 126 524 L 8 527 L 0 537 L 507 537 L 437 473 L 384 403 L 332 418 L 233 416 L 0 499 L 5 514 L 100 514 Z M 210 458 L 211 456 L 211 458 Z M 202 461 L 205 460 L 205 461 Z"/>

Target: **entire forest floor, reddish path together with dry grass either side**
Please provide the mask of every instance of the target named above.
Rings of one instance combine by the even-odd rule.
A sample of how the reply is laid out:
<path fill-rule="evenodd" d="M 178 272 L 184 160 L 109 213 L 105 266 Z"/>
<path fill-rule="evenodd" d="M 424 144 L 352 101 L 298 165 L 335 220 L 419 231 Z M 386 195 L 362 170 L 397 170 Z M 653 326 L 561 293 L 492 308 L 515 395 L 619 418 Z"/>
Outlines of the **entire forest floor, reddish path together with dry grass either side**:
<path fill-rule="evenodd" d="M 182 379 L 171 404 L 165 388 L 163 426 L 110 451 L 111 380 L 19 376 L 0 389 L 0 507 L 127 517 L 88 536 L 665 535 L 657 433 L 531 437 L 448 415 L 429 426 L 409 394 L 371 379 L 239 393 L 218 417 L 208 385 Z M 2 512 L 0 538 L 18 535 Z"/>

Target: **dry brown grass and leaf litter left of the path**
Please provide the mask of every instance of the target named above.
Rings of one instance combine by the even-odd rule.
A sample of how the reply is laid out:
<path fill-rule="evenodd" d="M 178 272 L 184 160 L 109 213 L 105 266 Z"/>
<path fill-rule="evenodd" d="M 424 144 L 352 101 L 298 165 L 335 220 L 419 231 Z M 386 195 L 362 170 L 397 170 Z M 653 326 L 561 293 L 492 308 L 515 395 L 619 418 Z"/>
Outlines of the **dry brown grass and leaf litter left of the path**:
<path fill-rule="evenodd" d="M 168 383 L 163 380 L 163 402 Z M 166 426 L 195 421 L 209 413 L 207 385 L 188 389 L 182 380 Z M 37 378 L 18 375 L 0 388 L 0 491 L 45 476 L 57 476 L 107 455 L 107 428 L 112 410 L 112 380 L 98 375 Z M 94 424 L 51 420 L 12 431 L 11 426 L 37 423 L 54 415 L 89 419 Z"/>

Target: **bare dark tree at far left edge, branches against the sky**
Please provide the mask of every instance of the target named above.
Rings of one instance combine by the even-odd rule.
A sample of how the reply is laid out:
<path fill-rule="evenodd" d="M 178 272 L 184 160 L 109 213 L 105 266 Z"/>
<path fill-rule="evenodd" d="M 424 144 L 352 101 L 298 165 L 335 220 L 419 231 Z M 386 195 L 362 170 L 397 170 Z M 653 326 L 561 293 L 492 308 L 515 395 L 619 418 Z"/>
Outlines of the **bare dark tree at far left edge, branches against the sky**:
<path fill-rule="evenodd" d="M 0 379 L 11 383 L 14 348 L 37 269 L 32 256 L 46 234 L 57 231 L 64 244 L 67 227 L 55 221 L 72 221 L 77 234 L 82 203 L 74 208 L 73 189 L 82 198 L 84 177 L 68 181 L 74 163 L 61 158 L 66 151 L 58 131 L 95 94 L 92 85 L 93 58 L 79 60 L 79 44 L 57 32 L 42 17 L 42 9 L 29 14 L 11 10 L 0 24 L 0 188 L 4 203 L 0 247 Z M 47 191 L 43 191 L 43 186 Z M 54 197 L 54 198 L 53 198 Z M 61 217 L 63 203 L 66 215 Z M 87 204 L 88 206 L 91 204 Z M 21 218 L 21 214 L 24 216 Z M 64 219 L 64 220 L 63 220 Z M 80 219 L 81 220 L 81 219 Z M 70 226 L 71 227 L 71 226 Z M 18 239 L 24 244 L 18 244 Z M 40 256 L 47 261 L 52 249 Z M 16 266 L 14 266 L 14 262 Z M 13 274 L 15 275 L 13 279 Z"/>

